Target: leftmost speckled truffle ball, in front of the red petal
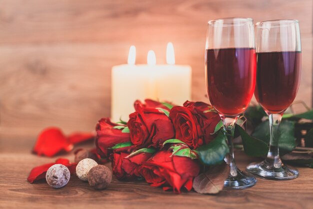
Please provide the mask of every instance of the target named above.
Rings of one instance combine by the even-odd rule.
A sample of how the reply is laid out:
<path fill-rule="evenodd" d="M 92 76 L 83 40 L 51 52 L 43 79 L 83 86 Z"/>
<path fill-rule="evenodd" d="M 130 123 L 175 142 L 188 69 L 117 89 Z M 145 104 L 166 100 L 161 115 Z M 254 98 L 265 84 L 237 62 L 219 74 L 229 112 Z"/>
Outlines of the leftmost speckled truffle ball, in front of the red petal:
<path fill-rule="evenodd" d="M 53 188 L 61 188 L 67 184 L 70 172 L 65 165 L 55 164 L 46 171 L 46 182 Z"/>

